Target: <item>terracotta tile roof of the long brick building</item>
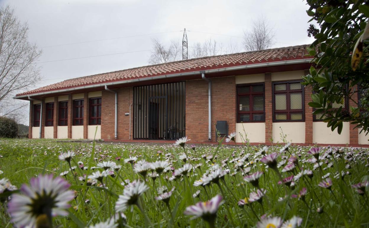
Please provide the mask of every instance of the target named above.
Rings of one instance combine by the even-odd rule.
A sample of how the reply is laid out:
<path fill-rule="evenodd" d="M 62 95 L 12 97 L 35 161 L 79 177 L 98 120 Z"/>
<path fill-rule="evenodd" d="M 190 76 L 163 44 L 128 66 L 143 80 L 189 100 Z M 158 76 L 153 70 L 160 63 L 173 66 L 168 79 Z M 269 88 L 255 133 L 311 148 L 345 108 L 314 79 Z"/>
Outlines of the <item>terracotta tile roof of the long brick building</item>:
<path fill-rule="evenodd" d="M 75 88 L 79 86 L 102 84 L 107 82 L 124 81 L 137 78 L 146 78 L 166 74 L 177 74 L 184 72 L 201 71 L 257 63 L 277 62 L 284 60 L 308 59 L 306 47 L 309 45 L 298 45 L 291 47 L 273 48 L 262 51 L 241 52 L 235 54 L 218 55 L 187 59 L 164 64 L 150 65 L 125 69 L 121 71 L 108 72 L 68 79 L 55 84 L 43 86 L 38 89 L 19 93 L 16 96 L 30 95 L 39 92 L 55 91 L 60 89 Z"/>

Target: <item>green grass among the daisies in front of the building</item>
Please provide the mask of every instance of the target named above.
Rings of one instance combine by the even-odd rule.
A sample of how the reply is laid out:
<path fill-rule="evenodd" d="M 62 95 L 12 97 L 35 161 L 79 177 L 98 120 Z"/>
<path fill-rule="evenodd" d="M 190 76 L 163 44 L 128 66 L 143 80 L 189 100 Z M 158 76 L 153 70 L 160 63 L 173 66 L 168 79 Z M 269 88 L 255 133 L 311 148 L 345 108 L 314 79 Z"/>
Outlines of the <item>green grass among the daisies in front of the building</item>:
<path fill-rule="evenodd" d="M 281 146 L 269 147 L 267 154 L 279 152 L 280 148 Z M 319 168 L 313 170 L 313 164 L 304 163 L 307 159 L 312 158 L 307 153 L 310 147 L 290 147 L 290 153 L 301 155 L 299 166 L 313 170 L 314 173 L 313 178 L 300 178 L 299 181 L 296 181 L 294 188 L 290 188 L 277 184 L 280 180 L 277 173 L 272 169 L 268 169 L 259 161 L 263 157 L 262 155 L 254 157 L 259 149 L 261 149 L 261 146 L 211 145 L 197 146 L 196 150 L 193 151 L 186 145 L 186 153 L 192 157 L 190 161 L 187 160 L 187 163 L 202 163 L 200 169 L 196 169 L 188 176 L 173 181 L 168 180 L 172 176 L 170 172 L 162 174 L 155 181 L 147 177 L 149 190 L 140 197 L 145 214 L 142 214 L 137 206 L 133 206 L 132 210 L 124 211 L 127 216 L 127 227 L 149 227 L 150 223 L 152 227 L 208 227 L 208 224 L 201 218 L 191 220 L 191 217 L 184 215 L 183 212 L 189 205 L 199 201 L 207 201 L 217 194 L 222 194 L 220 188 L 223 190 L 225 203 L 218 210 L 215 227 L 255 227 L 263 214 L 279 216 L 284 220 L 290 219 L 293 215 L 299 216 L 303 219 L 301 227 L 369 227 L 368 187 L 366 188 L 366 194 L 363 196 L 351 187 L 352 184 L 368 180 L 369 153 L 367 150 L 353 150 L 354 159 L 349 161 L 349 157 L 346 157 L 346 155 L 352 149 L 342 148 L 340 149 L 340 156 L 325 159 L 321 170 Z M 97 143 L 93 147 L 93 143 L 0 139 L 0 170 L 4 172 L 0 175 L 0 179 L 8 178 L 13 185 L 19 188 L 24 183 L 28 184 L 30 178 L 36 177 L 38 174 L 59 176 L 62 171 L 69 170 L 68 163 L 58 159 L 58 155 L 67 150 L 72 150 L 77 154 L 71 162 L 72 166 L 76 166 L 77 161 L 82 161 L 85 165 L 84 170 L 75 170 L 77 178 L 83 174 L 88 176 L 96 171 L 89 171 L 87 168 L 96 166 L 99 161 L 114 161 L 121 164 L 122 168 L 119 173 L 115 173 L 115 177 L 104 178 L 103 183 L 106 185 L 106 189 L 100 183 L 90 187 L 78 179 L 76 183 L 72 172 L 69 171 L 66 179 L 72 184 L 71 188 L 77 191 L 77 198 L 75 201 L 71 201 L 72 207 L 69 209 L 68 217 L 54 218 L 54 227 L 61 225 L 61 227 L 82 228 L 108 220 L 115 213 L 114 205 L 118 195 L 123 192 L 124 187 L 120 184 L 123 181 L 122 179 L 142 180 L 142 176 L 134 173 L 131 164 L 124 163 L 124 159 L 129 156 L 137 156 L 138 160 L 145 159 L 151 162 L 165 160 L 166 154 L 169 153 L 168 160 L 175 169 L 184 164 L 183 161 L 179 160 L 179 155 L 183 153 L 182 147 L 169 144 Z M 320 154 L 322 155 L 325 150 L 323 149 Z M 220 181 L 219 185 L 212 183 L 205 188 L 193 186 L 194 181 L 199 180 L 209 167 L 214 164 L 221 165 L 222 160 L 227 158 L 231 161 L 233 159 L 232 153 L 235 157 L 251 154 L 249 161 L 245 161 L 245 167 L 251 166 L 250 174 L 256 171 L 264 172 L 259 182 L 260 187 L 266 189 L 266 197 L 263 197 L 262 204 L 254 202 L 252 207 L 245 206 L 241 208 L 238 206 L 238 200 L 248 197 L 256 189 L 243 180 L 245 174 L 237 169 L 235 163 L 228 162 L 224 166 L 224 169 L 230 169 L 230 173 L 225 175 L 224 181 Z M 214 157 L 217 156 L 217 158 L 207 161 L 201 157 L 203 154 L 211 154 Z M 277 161 L 289 156 L 288 152 L 284 152 L 278 157 Z M 116 157 L 121 157 L 120 161 L 116 160 Z M 249 164 L 251 161 L 254 164 Z M 333 166 L 328 168 L 325 161 L 332 162 Z M 351 168 L 347 169 L 345 167 L 347 164 L 350 164 Z M 279 171 L 282 168 L 283 166 L 279 168 Z M 335 178 L 335 174 L 337 172 L 341 173 L 341 171 L 350 174 L 345 175 L 344 178 Z M 294 172 L 297 174 L 297 170 L 294 170 Z M 330 173 L 329 177 L 333 181 L 332 191 L 318 187 L 318 183 L 322 180 L 321 176 L 327 173 Z M 283 178 L 291 175 L 293 173 L 282 173 Z M 162 201 L 154 199 L 158 195 L 157 188 L 160 185 L 166 186 L 169 190 L 175 187 L 169 201 L 169 209 Z M 305 201 L 294 197 L 294 195 L 299 194 L 303 187 L 307 188 Z M 200 197 L 193 198 L 192 194 L 197 190 L 200 190 Z M 285 196 L 286 194 L 287 196 Z M 280 197 L 284 199 L 279 201 Z M 85 200 L 90 202 L 88 204 L 84 203 Z M 1 207 L 3 209 L 0 210 L 6 210 L 7 202 L 1 204 Z M 323 208 L 323 213 L 317 213 L 317 208 Z M 5 211 L 2 211 L 1 214 L 3 222 L 0 222 L 0 227 L 12 227 L 8 214 Z M 145 218 L 146 215 L 148 219 Z"/>

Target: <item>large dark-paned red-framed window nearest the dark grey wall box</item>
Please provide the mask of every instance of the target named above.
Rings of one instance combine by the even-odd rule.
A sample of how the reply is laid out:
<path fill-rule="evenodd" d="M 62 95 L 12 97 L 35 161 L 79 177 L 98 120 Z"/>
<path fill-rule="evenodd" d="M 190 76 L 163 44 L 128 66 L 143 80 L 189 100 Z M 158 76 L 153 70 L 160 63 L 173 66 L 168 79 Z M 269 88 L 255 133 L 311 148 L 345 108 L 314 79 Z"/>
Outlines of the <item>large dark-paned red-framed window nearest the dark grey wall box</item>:
<path fill-rule="evenodd" d="M 264 84 L 237 86 L 237 122 L 265 121 Z"/>

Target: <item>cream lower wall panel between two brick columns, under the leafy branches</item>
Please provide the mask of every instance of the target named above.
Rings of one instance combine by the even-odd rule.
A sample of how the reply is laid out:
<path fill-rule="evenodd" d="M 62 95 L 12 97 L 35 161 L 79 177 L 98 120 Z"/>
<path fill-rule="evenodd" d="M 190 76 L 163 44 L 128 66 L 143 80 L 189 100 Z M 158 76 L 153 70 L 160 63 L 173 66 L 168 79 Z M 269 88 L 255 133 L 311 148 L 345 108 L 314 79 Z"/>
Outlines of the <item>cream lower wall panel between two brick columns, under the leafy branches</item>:
<path fill-rule="evenodd" d="M 330 127 L 327 127 L 327 123 L 313 122 L 313 143 L 322 144 L 346 144 L 350 142 L 350 123 L 344 122 L 341 135 L 337 133 L 337 129 L 334 132 Z"/>

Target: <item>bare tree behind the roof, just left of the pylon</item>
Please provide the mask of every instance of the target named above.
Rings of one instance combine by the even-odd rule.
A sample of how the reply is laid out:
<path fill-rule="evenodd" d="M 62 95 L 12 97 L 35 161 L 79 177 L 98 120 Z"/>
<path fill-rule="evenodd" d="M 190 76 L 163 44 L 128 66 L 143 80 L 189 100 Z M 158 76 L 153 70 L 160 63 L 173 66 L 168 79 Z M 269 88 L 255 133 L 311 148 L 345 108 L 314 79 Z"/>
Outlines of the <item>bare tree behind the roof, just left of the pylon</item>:
<path fill-rule="evenodd" d="M 179 58 L 182 46 L 179 45 L 178 41 L 170 41 L 170 45 L 167 48 L 158 39 L 152 40 L 152 44 L 153 50 L 149 58 L 149 64 L 161 64 L 181 60 Z"/>

